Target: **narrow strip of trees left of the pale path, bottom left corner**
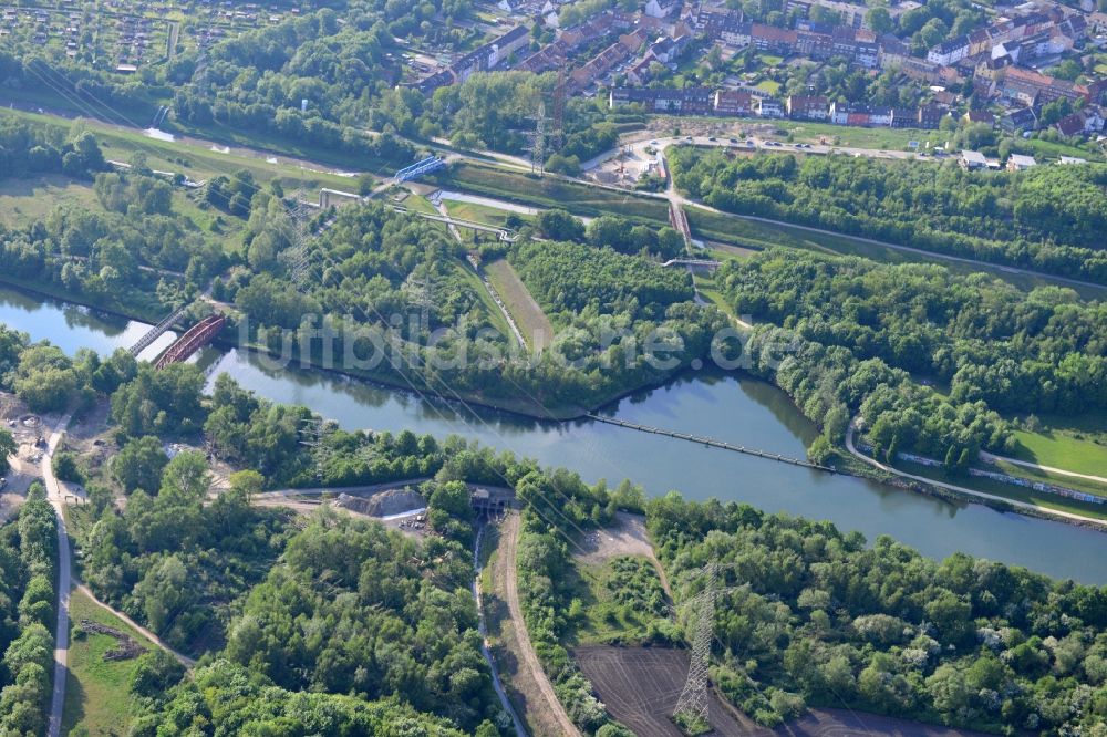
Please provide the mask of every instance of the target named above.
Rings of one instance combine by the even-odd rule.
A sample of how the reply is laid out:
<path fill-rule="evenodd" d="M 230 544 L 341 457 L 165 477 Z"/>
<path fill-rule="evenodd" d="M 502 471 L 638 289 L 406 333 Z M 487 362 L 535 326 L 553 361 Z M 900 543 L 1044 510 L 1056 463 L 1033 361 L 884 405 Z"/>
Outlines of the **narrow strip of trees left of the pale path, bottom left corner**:
<path fill-rule="evenodd" d="M 41 484 L 0 526 L 0 733 L 45 730 L 54 664 L 58 531 Z"/>

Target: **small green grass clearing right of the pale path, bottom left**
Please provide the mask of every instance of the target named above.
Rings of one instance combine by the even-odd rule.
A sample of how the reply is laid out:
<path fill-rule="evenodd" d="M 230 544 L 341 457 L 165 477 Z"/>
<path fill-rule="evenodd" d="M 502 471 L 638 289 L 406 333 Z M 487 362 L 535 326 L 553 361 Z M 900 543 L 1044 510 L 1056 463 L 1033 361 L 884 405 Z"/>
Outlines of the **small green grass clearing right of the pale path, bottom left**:
<path fill-rule="evenodd" d="M 93 620 L 127 633 L 144 647 L 155 646 L 81 591 L 74 591 L 70 598 L 70 619 L 75 623 Z M 65 681 L 63 735 L 77 727 L 93 737 L 127 733 L 131 722 L 128 684 L 135 661 L 104 661 L 104 652 L 115 644 L 114 637 L 104 634 L 89 634 L 73 640 Z"/>

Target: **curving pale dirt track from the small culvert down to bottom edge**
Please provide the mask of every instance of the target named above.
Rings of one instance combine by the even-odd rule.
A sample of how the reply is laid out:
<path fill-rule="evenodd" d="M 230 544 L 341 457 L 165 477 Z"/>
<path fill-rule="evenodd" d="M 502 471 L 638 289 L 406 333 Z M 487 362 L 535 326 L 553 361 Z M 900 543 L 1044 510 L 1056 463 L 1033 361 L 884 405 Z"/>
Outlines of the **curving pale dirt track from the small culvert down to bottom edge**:
<path fill-rule="evenodd" d="M 531 725 L 531 730 L 535 734 L 580 737 L 580 731 L 572 724 L 572 720 L 569 719 L 565 707 L 561 706 L 561 702 L 557 699 L 557 694 L 554 693 L 554 686 L 550 684 L 549 678 L 546 677 L 546 672 L 542 671 L 538 653 L 535 652 L 535 646 L 530 643 L 527 623 L 523 619 L 523 606 L 519 604 L 519 588 L 516 573 L 516 561 L 519 549 L 519 523 L 518 512 L 508 515 L 504 520 L 500 527 L 499 560 L 497 561 L 495 571 L 496 578 L 499 579 L 496 589 L 503 591 L 505 599 L 507 599 L 508 613 L 513 624 L 511 635 L 509 636 L 513 642 L 508 643 L 508 646 L 520 658 L 514 681 L 524 693 L 537 693 L 540 695 L 541 704 L 535 705 L 537 708 L 532 708 L 529 704 L 527 705 L 528 716 L 537 717 L 539 723 L 547 723 L 540 724 L 544 727 L 541 729 L 535 729 L 535 725 Z"/>

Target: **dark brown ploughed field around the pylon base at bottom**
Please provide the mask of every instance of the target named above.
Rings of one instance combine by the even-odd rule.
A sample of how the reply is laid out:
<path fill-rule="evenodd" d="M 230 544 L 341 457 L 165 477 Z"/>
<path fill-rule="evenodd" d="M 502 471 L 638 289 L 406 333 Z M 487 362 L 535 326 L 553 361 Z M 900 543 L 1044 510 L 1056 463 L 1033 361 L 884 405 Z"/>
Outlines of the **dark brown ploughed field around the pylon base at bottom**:
<path fill-rule="evenodd" d="M 608 713 L 639 737 L 681 737 L 669 715 L 689 669 L 689 652 L 666 647 L 578 647 L 573 657 Z M 755 724 L 716 694 L 710 705 L 712 734 L 722 737 L 975 737 L 977 733 L 844 709 L 811 709 L 776 729 Z M 983 735 L 980 735 L 983 737 Z"/>

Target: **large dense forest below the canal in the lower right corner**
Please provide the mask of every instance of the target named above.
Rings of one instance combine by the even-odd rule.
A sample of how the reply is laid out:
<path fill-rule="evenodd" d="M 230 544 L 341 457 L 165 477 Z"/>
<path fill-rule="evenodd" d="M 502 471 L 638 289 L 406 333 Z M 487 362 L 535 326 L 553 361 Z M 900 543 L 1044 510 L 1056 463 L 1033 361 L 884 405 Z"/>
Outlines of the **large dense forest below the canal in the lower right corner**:
<path fill-rule="evenodd" d="M 1003 734 L 1107 723 L 1103 588 L 675 494 L 648 526 L 679 600 L 718 565 L 713 679 L 763 724 L 807 705 Z"/>

